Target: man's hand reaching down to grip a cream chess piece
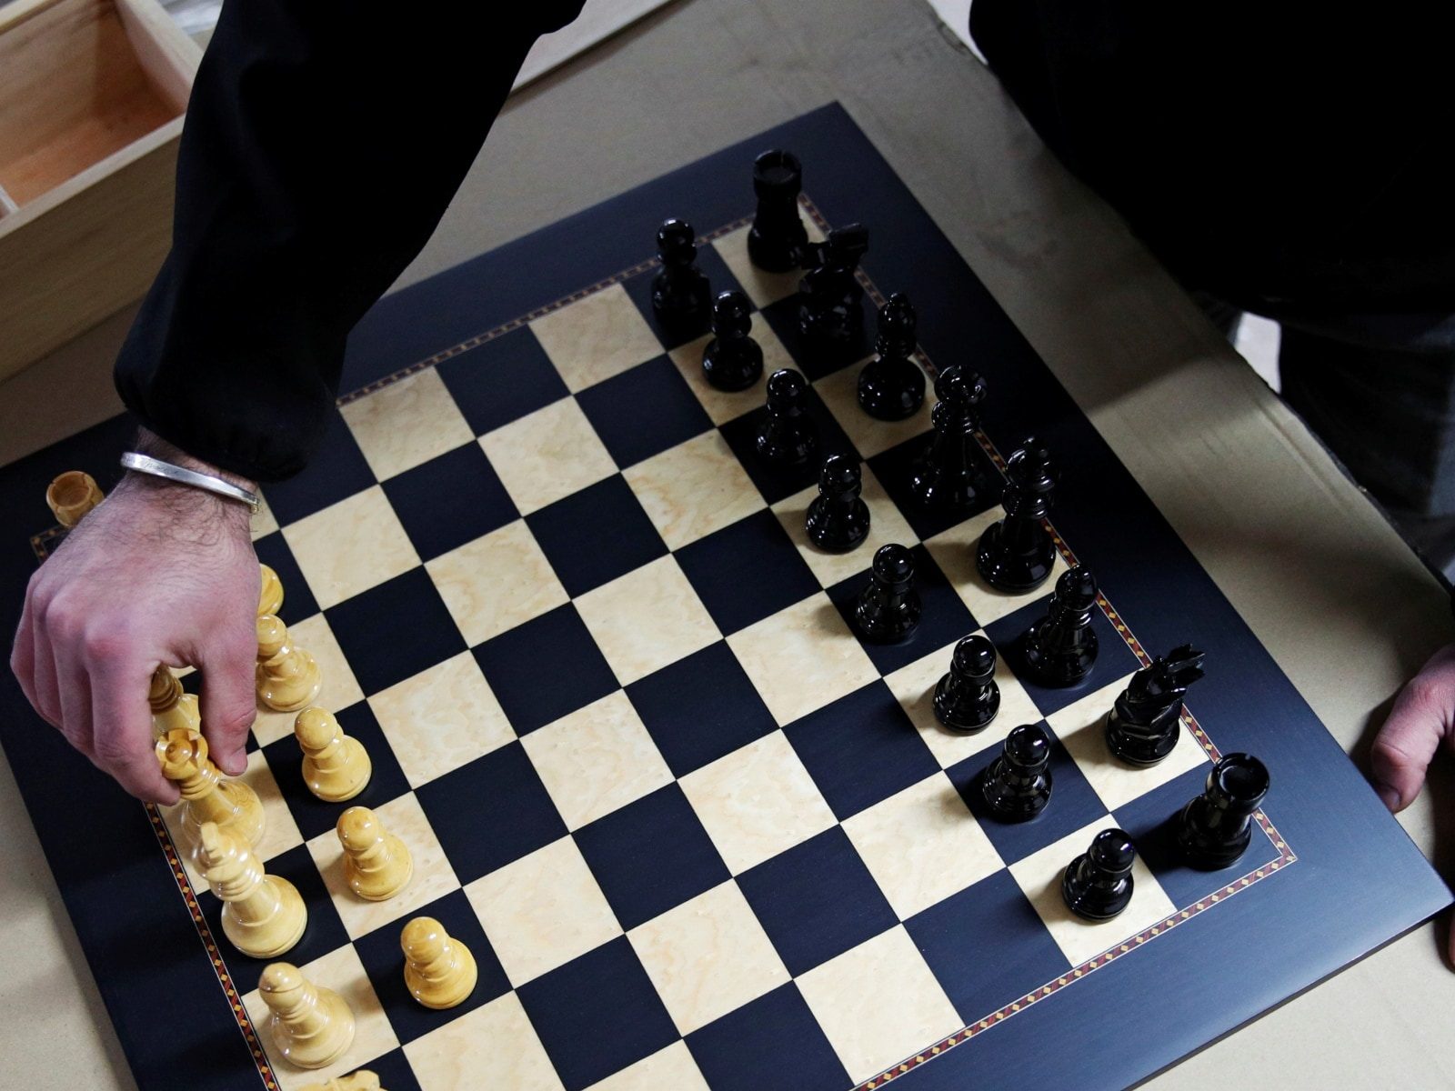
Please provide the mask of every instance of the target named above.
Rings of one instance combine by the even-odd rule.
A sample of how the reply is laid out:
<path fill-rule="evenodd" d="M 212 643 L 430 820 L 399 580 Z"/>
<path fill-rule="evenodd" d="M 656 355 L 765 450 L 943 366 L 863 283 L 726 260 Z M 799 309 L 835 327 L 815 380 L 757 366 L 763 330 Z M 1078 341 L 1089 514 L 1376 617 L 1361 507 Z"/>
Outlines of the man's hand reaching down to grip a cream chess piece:
<path fill-rule="evenodd" d="M 214 467 L 144 433 L 147 454 Z M 242 479 L 230 477 L 242 484 Z M 128 474 L 31 578 L 10 669 L 35 710 L 140 799 L 172 803 L 151 739 L 159 665 L 202 672 L 202 732 L 243 772 L 256 711 L 259 569 L 247 508 Z"/>

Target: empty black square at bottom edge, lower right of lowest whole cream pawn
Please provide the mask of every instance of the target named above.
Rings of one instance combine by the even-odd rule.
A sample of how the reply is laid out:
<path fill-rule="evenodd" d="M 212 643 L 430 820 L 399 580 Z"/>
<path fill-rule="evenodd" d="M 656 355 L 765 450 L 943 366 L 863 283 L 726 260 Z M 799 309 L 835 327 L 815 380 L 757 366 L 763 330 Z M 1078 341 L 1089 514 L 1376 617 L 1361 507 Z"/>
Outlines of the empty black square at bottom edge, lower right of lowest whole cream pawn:
<path fill-rule="evenodd" d="M 624 935 L 527 982 L 517 995 L 566 1091 L 581 1091 L 678 1039 Z"/>

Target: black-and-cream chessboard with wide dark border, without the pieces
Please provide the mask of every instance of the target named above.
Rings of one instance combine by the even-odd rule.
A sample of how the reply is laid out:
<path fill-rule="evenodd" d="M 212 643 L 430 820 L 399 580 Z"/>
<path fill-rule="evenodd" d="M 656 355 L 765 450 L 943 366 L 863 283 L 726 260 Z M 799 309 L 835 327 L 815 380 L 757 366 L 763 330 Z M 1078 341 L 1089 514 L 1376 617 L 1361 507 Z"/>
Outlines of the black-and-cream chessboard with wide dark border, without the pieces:
<path fill-rule="evenodd" d="M 867 323 L 905 292 L 931 377 L 984 377 L 986 465 L 1035 433 L 1061 467 L 1056 572 L 1100 592 L 1100 653 L 1069 688 L 1017 647 L 1052 579 L 1002 594 L 975 543 L 1001 516 L 930 511 L 909 484 L 933 391 L 886 423 L 858 361 L 802 343 L 797 273 L 748 256 L 751 167 L 803 163 L 813 239 L 867 225 Z M 861 467 L 869 540 L 805 535 L 816 464 L 754 451 L 764 384 L 703 378 L 704 336 L 650 305 L 653 237 L 688 220 L 713 291 L 752 304 L 765 374 L 796 368 L 824 449 Z M 872 329 L 869 330 L 872 335 Z M 262 711 L 244 780 L 255 847 L 308 911 L 285 957 L 356 1015 L 345 1056 L 276 1056 L 263 962 L 220 928 L 175 815 L 127 797 L 0 688 L 0 740 L 144 1091 L 300 1088 L 368 1068 L 390 1091 L 501 1087 L 915 1091 L 1136 1082 L 1449 902 L 1420 852 L 904 183 L 826 106 L 383 300 L 355 330 L 310 468 L 265 489 L 258 556 L 316 658 L 319 703 L 364 743 L 349 803 L 311 796 L 292 716 Z M 118 417 L 0 470 L 0 601 L 63 531 L 47 483 L 115 481 Z M 874 550 L 909 547 L 911 639 L 850 624 Z M 1000 652 L 997 719 L 931 710 L 956 642 Z M 1106 751 L 1129 676 L 1193 643 L 1206 676 L 1148 768 Z M 186 679 L 191 685 L 195 676 Z M 1011 727 L 1051 739 L 1055 788 L 1004 823 L 975 791 Z M 1224 754 L 1272 790 L 1241 860 L 1183 864 L 1173 820 Z M 390 900 L 340 879 L 335 823 L 372 809 L 415 874 Z M 1062 873 L 1103 829 L 1138 850 L 1110 921 Z M 429 915 L 479 966 L 458 1007 L 416 1004 L 400 928 Z"/>

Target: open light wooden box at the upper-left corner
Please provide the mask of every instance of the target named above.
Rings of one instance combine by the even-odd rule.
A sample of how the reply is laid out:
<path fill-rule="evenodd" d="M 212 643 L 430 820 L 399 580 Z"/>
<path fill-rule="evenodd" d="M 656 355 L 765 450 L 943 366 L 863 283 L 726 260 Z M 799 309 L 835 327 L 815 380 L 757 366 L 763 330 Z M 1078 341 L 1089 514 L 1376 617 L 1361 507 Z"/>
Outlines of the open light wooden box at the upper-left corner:
<path fill-rule="evenodd" d="M 0 7 L 0 380 L 147 289 L 201 57 L 157 0 Z"/>

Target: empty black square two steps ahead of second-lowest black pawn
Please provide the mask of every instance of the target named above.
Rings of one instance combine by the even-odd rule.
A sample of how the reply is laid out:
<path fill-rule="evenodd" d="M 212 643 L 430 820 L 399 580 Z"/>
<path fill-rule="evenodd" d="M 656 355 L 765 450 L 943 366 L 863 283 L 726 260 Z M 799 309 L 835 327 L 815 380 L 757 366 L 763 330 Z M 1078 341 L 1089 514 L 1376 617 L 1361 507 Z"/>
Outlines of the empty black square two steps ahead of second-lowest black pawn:
<path fill-rule="evenodd" d="M 899 924 L 842 826 L 738 876 L 794 978 Z"/>

